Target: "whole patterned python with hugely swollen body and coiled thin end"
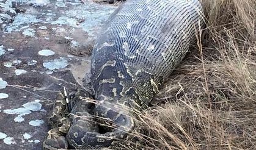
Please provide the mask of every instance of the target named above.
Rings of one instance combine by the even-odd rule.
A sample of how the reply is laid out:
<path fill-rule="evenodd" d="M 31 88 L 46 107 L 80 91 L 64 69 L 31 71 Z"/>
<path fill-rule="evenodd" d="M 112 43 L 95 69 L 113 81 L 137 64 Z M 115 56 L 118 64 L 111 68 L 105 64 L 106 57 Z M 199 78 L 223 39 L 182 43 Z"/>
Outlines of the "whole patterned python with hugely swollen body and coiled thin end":
<path fill-rule="evenodd" d="M 63 94 L 57 96 L 43 147 L 123 149 L 134 129 L 133 110 L 147 107 L 196 41 L 202 23 L 198 0 L 120 5 L 93 47 L 92 93 L 78 90 L 68 105 Z"/>

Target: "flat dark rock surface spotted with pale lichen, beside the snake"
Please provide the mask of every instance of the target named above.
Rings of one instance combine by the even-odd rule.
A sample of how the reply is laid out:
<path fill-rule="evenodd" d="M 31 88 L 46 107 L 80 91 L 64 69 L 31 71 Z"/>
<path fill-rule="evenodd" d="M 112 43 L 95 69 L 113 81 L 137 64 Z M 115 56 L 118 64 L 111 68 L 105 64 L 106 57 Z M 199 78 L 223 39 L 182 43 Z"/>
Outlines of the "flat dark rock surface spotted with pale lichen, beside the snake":
<path fill-rule="evenodd" d="M 93 40 L 115 8 L 0 0 L 0 149 L 42 149 L 56 93 L 82 85 Z"/>

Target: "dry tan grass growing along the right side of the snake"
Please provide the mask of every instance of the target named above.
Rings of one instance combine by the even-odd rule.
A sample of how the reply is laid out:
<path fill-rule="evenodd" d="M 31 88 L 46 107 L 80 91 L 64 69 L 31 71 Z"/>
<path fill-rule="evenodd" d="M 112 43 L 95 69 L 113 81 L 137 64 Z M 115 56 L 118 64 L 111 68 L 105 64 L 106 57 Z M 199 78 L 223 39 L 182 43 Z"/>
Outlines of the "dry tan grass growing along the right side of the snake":
<path fill-rule="evenodd" d="M 139 115 L 137 149 L 256 148 L 256 1 L 203 7 L 202 41 Z"/>

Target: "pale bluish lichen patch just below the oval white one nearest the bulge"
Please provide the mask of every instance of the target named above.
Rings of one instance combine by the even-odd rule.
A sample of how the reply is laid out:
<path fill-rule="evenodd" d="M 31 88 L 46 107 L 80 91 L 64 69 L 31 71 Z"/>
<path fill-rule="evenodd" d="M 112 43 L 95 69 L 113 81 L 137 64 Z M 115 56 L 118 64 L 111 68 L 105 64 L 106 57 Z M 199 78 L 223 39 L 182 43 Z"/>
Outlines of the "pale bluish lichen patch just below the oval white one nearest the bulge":
<path fill-rule="evenodd" d="M 48 62 L 44 62 L 43 66 L 48 70 L 59 70 L 68 66 L 68 60 L 64 58 L 49 60 Z"/>

